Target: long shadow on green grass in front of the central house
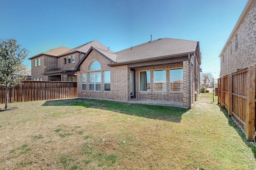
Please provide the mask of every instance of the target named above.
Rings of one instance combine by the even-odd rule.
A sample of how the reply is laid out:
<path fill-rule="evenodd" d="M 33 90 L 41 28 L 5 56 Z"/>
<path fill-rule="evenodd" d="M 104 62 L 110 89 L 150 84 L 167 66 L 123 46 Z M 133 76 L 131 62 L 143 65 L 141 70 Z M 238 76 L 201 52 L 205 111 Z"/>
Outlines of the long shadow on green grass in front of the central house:
<path fill-rule="evenodd" d="M 95 108 L 123 113 L 126 115 L 134 115 L 146 117 L 149 119 L 158 119 L 179 123 L 182 114 L 189 109 L 157 106 L 147 104 L 130 104 L 126 102 L 116 102 L 109 100 L 95 99 L 64 99 L 46 101 L 42 106 L 83 106 L 86 108 Z"/>

